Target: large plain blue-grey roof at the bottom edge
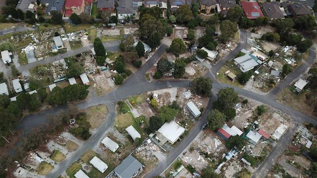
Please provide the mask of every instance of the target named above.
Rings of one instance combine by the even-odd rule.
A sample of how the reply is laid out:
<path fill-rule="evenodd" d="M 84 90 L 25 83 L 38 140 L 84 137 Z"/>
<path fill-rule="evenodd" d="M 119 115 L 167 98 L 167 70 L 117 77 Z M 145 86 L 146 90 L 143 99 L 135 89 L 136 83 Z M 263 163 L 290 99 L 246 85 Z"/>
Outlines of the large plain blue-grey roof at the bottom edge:
<path fill-rule="evenodd" d="M 141 167 L 142 164 L 133 156 L 129 155 L 116 167 L 115 173 L 120 178 L 131 178 Z"/>

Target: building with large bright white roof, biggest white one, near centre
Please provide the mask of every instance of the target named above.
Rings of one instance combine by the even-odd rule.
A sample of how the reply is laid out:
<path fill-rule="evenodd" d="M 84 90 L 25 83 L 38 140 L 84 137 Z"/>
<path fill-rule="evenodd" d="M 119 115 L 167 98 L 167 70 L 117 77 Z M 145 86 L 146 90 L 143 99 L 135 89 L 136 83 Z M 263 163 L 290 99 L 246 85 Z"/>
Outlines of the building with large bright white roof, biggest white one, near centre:
<path fill-rule="evenodd" d="M 170 142 L 174 144 L 179 137 L 184 133 L 185 128 L 179 126 L 176 122 L 171 121 L 162 125 L 156 135 L 160 145 L 164 145 L 165 142 Z"/>

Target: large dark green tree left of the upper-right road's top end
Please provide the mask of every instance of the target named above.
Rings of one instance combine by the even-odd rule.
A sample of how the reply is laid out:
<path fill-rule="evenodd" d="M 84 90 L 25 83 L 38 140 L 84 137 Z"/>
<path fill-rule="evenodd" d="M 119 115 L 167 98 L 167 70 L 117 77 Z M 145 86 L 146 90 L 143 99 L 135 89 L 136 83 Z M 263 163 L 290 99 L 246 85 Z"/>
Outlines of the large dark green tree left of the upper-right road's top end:
<path fill-rule="evenodd" d="M 220 23 L 220 41 L 227 42 L 230 38 L 233 38 L 238 32 L 237 24 L 230 20 L 224 20 Z"/>

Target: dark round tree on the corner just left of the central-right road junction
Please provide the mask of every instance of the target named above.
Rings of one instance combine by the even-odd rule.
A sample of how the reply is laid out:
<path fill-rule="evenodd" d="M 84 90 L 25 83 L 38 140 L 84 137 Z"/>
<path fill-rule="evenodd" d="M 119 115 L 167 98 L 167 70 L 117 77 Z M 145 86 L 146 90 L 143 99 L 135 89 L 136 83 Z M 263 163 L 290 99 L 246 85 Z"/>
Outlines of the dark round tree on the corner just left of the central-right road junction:
<path fill-rule="evenodd" d="M 210 78 L 196 77 L 190 82 L 191 89 L 196 94 L 210 96 L 213 81 Z"/>

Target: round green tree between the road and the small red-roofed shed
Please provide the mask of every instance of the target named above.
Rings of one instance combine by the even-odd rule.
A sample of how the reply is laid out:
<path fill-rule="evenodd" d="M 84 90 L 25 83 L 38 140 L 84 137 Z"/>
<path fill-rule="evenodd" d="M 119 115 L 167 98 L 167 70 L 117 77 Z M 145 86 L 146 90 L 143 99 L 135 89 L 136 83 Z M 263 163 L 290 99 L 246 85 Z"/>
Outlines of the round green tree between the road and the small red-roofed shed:
<path fill-rule="evenodd" d="M 208 113 L 207 121 L 209 128 L 216 131 L 225 124 L 226 116 L 217 109 L 213 109 Z"/>

